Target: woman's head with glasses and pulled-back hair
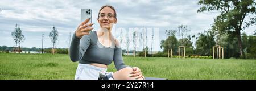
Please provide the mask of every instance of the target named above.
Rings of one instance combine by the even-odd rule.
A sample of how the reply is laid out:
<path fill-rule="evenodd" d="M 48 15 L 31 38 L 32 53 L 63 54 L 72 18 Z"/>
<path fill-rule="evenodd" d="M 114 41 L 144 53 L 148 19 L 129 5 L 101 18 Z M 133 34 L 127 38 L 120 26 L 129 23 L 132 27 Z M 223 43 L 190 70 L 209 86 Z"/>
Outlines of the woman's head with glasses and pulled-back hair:
<path fill-rule="evenodd" d="M 104 7 L 98 16 L 98 23 L 100 23 L 101 28 L 110 30 L 112 25 L 117 23 L 117 19 L 114 16 L 114 10 L 110 7 Z"/>

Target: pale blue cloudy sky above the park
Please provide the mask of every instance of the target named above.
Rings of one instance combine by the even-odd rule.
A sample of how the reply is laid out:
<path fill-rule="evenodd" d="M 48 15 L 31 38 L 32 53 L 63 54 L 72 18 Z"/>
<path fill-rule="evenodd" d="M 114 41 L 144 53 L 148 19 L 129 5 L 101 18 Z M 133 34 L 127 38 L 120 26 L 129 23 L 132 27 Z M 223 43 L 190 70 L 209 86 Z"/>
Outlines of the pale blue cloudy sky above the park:
<path fill-rule="evenodd" d="M 115 37 L 120 38 L 118 28 L 129 32 L 129 28 L 152 28 L 158 33 L 153 41 L 148 40 L 147 45 L 153 51 L 161 51 L 160 40 L 166 39 L 165 30 L 174 30 L 181 24 L 187 25 L 191 30 L 189 35 L 196 35 L 208 30 L 217 11 L 197 13 L 201 5 L 197 0 L 1 0 L 0 2 L 0 46 L 15 45 L 11 32 L 18 23 L 23 31 L 25 41 L 22 47 L 42 48 L 42 34 L 44 34 L 43 48 L 52 47 L 49 32 L 55 26 L 59 32 L 57 48 L 68 48 L 70 35 L 72 36 L 80 24 L 81 9 L 92 9 L 92 22 L 94 30 L 100 28 L 97 23 L 97 14 L 101 6 L 112 5 L 117 11 L 118 22 L 115 25 Z M 248 18 L 246 18 L 248 19 Z M 242 32 L 253 34 L 255 26 L 246 28 Z M 118 33 L 117 33 L 117 32 Z M 147 30 L 148 31 L 148 30 Z M 154 32 L 155 33 L 155 32 Z M 129 34 L 131 38 L 131 34 Z M 149 38 L 150 39 L 150 38 Z M 133 43 L 131 43 L 133 44 Z M 125 48 L 123 48 L 125 49 Z M 131 48 L 130 48 L 131 49 Z"/>

